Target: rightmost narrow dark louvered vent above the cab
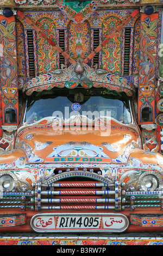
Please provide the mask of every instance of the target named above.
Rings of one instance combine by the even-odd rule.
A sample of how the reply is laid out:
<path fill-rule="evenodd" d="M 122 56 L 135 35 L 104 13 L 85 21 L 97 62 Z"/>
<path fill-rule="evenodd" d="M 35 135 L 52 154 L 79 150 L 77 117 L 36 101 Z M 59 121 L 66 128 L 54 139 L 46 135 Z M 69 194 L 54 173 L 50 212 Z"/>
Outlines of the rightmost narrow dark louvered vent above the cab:
<path fill-rule="evenodd" d="M 129 75 L 130 36 L 131 36 L 131 28 L 125 28 L 124 73 L 123 73 L 124 76 Z"/>

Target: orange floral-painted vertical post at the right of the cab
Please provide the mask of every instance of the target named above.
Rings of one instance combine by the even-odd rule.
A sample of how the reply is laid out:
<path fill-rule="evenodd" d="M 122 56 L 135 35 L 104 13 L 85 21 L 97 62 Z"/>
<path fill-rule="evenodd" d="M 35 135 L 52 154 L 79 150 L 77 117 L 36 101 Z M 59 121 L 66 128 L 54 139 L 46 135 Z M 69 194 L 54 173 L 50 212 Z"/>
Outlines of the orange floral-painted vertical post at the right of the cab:
<path fill-rule="evenodd" d="M 140 63 L 139 63 L 139 101 L 138 123 L 143 124 L 142 111 L 151 111 L 148 124 L 154 121 L 155 108 L 155 75 L 156 75 L 156 47 L 158 42 L 158 14 L 147 16 L 142 14 L 140 23 Z"/>

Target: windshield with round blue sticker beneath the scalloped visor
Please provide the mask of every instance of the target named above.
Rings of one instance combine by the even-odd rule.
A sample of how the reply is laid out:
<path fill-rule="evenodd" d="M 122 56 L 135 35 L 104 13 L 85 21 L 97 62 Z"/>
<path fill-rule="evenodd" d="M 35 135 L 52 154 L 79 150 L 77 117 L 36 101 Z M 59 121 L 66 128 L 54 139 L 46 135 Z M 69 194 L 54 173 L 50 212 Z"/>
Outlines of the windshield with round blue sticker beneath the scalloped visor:
<path fill-rule="evenodd" d="M 102 88 L 53 88 L 34 92 L 28 97 L 25 122 L 35 123 L 45 117 L 68 119 L 72 115 L 111 117 L 131 123 L 129 98 L 125 93 Z"/>

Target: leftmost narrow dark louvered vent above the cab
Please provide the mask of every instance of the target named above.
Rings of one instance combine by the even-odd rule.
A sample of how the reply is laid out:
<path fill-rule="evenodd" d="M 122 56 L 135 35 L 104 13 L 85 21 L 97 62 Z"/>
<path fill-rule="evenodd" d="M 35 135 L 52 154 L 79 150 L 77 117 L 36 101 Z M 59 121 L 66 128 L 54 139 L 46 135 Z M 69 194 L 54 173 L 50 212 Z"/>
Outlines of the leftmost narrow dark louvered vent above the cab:
<path fill-rule="evenodd" d="M 35 64 L 34 64 L 34 44 L 33 44 L 33 30 L 27 30 L 28 36 L 28 56 L 29 56 L 29 76 L 35 77 Z"/>

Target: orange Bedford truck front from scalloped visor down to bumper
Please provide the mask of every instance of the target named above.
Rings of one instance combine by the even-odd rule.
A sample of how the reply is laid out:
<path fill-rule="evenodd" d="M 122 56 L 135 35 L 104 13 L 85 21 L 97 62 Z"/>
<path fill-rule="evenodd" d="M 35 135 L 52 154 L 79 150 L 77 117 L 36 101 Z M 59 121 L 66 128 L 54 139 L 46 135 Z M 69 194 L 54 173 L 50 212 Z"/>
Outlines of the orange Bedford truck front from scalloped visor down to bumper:
<path fill-rule="evenodd" d="M 135 93 L 80 62 L 26 84 L 14 149 L 1 142 L 2 233 L 163 230 L 163 157 L 142 143 Z"/>

